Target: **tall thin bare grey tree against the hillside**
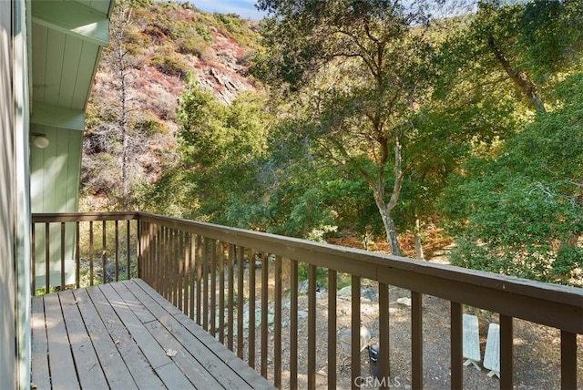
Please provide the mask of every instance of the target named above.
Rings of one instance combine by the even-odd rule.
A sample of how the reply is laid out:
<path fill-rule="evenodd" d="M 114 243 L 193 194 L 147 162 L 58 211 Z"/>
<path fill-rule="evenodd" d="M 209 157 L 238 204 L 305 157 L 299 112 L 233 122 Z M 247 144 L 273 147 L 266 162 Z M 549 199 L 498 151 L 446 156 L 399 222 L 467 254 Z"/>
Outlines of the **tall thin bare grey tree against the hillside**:
<path fill-rule="evenodd" d="M 114 203 L 110 207 L 118 210 L 130 209 L 132 185 L 143 176 L 146 139 L 163 128 L 147 113 L 137 116 L 133 72 L 143 42 L 137 41 L 141 35 L 134 31 L 131 3 L 118 2 L 111 18 L 110 45 L 100 67 L 110 69 L 112 77 L 89 101 L 81 178 L 84 190 L 106 192 Z"/>

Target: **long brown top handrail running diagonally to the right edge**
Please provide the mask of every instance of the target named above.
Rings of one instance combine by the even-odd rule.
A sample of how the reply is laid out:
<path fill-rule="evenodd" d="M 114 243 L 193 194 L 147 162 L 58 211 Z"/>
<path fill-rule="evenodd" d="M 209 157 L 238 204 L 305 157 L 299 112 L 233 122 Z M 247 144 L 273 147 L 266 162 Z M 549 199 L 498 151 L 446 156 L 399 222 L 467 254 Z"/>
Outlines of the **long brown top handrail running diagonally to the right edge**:
<path fill-rule="evenodd" d="M 576 287 L 145 212 L 138 220 L 583 334 L 583 291 Z"/>

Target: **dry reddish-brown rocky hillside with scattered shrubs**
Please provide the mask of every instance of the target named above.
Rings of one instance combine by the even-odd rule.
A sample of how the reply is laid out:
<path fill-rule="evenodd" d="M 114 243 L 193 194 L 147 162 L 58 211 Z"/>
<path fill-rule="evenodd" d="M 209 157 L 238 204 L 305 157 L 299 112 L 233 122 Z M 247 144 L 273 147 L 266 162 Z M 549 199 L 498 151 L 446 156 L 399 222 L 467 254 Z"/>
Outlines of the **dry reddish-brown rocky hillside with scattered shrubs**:
<path fill-rule="evenodd" d="M 110 35 L 87 108 L 81 210 L 128 207 L 119 202 L 125 191 L 175 162 L 176 108 L 187 77 L 225 104 L 255 88 L 246 58 L 257 26 L 237 15 L 188 3 L 118 2 Z"/>

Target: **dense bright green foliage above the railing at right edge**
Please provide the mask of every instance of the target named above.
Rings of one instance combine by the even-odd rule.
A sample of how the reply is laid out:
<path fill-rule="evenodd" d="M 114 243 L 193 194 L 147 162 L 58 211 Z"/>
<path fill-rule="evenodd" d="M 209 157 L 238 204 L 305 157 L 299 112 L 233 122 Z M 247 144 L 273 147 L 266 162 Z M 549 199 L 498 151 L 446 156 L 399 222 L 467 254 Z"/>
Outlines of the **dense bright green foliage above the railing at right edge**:
<path fill-rule="evenodd" d="M 452 262 L 545 282 L 578 272 L 583 100 L 568 91 L 580 87 L 582 77 L 568 77 L 557 87 L 561 109 L 539 114 L 496 157 L 469 161 L 452 181 L 443 203 L 461 237 Z"/>

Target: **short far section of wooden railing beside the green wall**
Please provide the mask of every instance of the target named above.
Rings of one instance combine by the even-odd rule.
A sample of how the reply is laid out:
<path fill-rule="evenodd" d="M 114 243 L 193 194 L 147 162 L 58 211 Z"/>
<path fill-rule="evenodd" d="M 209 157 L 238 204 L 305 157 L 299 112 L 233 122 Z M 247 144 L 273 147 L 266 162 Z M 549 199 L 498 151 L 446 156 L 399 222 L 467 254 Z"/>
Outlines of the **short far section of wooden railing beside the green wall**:
<path fill-rule="evenodd" d="M 135 212 L 33 214 L 33 293 L 137 276 L 137 218 Z"/>

